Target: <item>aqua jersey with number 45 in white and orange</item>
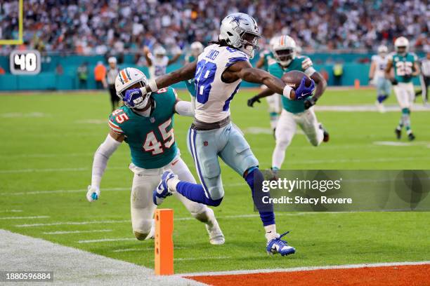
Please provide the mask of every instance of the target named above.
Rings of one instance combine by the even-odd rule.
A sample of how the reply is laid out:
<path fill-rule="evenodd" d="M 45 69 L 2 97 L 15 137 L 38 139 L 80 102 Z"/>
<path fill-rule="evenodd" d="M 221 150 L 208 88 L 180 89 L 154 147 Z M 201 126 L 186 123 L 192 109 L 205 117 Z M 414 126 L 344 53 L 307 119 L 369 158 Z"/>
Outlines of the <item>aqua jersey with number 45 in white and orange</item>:
<path fill-rule="evenodd" d="M 124 106 L 113 111 L 108 121 L 111 130 L 125 136 L 131 162 L 144 169 L 162 168 L 178 154 L 173 130 L 176 91 L 162 88 L 150 96 L 154 109 L 149 117 Z"/>

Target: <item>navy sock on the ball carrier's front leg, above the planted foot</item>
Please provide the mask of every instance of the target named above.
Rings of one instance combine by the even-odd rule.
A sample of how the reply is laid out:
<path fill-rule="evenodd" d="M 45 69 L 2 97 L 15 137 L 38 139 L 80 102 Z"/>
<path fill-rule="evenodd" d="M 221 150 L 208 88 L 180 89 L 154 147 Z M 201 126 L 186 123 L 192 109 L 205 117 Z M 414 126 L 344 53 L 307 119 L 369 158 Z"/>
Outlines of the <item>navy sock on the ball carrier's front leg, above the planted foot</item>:
<path fill-rule="evenodd" d="M 261 222 L 263 226 L 269 226 L 275 224 L 275 213 L 273 212 L 273 205 L 263 203 L 263 196 L 268 196 L 268 193 L 264 193 L 263 190 L 263 173 L 259 168 L 252 168 L 245 176 L 249 187 L 252 191 L 252 200 L 254 200 L 254 206 L 259 210 Z"/>

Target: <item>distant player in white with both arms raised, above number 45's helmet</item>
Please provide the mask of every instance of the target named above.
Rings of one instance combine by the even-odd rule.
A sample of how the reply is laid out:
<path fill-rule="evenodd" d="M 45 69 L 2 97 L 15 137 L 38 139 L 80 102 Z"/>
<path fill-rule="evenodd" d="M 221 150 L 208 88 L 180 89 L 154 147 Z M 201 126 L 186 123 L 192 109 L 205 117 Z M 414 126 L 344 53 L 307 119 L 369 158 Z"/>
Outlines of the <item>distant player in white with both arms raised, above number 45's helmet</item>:
<path fill-rule="evenodd" d="M 162 46 L 156 46 L 153 53 L 150 53 L 148 47 L 143 48 L 146 62 L 150 71 L 150 79 L 166 74 L 166 69 L 170 64 L 176 62 L 181 57 L 181 48 L 176 47 L 174 56 L 169 59 L 166 55 L 166 49 Z"/>

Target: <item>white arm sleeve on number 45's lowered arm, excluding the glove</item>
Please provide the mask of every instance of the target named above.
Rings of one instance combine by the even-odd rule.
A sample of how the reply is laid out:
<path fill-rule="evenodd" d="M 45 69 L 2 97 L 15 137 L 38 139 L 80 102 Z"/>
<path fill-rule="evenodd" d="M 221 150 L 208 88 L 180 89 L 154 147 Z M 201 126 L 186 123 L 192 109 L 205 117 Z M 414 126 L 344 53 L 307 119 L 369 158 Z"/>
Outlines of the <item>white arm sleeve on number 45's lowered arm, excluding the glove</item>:
<path fill-rule="evenodd" d="M 91 187 L 100 189 L 100 182 L 105 172 L 107 161 L 110 156 L 117 150 L 121 142 L 113 139 L 112 136 L 107 135 L 105 142 L 98 147 L 96 154 L 94 154 L 93 170 L 91 175 Z"/>

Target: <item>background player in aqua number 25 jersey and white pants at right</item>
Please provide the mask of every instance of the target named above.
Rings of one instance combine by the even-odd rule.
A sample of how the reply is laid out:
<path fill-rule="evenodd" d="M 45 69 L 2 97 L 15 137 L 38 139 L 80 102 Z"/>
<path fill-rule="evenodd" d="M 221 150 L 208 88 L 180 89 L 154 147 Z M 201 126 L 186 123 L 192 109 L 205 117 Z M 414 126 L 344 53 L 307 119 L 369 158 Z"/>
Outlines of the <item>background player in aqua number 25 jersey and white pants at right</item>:
<path fill-rule="evenodd" d="M 402 109 L 402 116 L 394 132 L 396 132 L 397 139 L 400 139 L 402 129 L 405 127 L 408 139 L 412 141 L 415 139 L 415 135 L 412 133 L 410 125 L 410 109 L 415 100 L 412 77 L 419 74 L 417 55 L 409 53 L 409 41 L 404 36 L 400 36 L 394 41 L 394 48 L 396 52 L 389 55 L 385 69 L 385 76 L 391 80 L 398 104 Z M 391 77 L 391 69 L 394 69 L 393 77 Z"/>

